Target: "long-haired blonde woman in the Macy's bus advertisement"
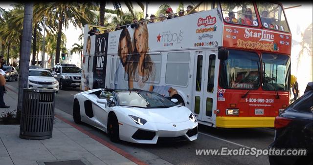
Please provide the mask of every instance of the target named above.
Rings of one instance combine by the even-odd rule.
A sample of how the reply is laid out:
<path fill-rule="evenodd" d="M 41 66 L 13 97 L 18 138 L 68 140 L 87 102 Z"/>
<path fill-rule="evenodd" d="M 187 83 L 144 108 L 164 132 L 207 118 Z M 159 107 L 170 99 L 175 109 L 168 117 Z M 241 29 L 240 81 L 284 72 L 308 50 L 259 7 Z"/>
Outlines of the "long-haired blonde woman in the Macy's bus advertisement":
<path fill-rule="evenodd" d="M 149 90 L 150 85 L 146 82 L 154 82 L 156 67 L 152 62 L 148 43 L 149 35 L 147 24 L 138 24 L 134 27 L 133 53 L 127 67 L 129 88 Z"/>

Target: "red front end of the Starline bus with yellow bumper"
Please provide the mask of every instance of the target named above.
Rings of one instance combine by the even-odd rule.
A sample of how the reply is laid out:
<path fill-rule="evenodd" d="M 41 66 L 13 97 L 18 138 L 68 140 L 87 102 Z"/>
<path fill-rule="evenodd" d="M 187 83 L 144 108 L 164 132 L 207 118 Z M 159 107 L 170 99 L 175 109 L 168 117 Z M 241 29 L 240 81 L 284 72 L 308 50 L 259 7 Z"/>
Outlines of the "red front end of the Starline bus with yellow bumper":
<path fill-rule="evenodd" d="M 289 104 L 291 32 L 281 4 L 220 4 L 217 127 L 273 127 Z M 235 17 L 234 17 L 235 16 Z"/>

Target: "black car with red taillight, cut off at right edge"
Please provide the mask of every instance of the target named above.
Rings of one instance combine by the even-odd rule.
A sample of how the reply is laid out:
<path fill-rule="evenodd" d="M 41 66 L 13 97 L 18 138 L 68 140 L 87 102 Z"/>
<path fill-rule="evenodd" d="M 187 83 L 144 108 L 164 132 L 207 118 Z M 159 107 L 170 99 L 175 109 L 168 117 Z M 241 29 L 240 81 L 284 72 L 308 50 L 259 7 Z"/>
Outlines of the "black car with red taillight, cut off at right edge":
<path fill-rule="evenodd" d="M 306 156 L 272 156 L 271 165 L 313 165 L 313 83 L 298 100 L 275 118 L 275 138 L 269 148 L 306 149 Z"/>

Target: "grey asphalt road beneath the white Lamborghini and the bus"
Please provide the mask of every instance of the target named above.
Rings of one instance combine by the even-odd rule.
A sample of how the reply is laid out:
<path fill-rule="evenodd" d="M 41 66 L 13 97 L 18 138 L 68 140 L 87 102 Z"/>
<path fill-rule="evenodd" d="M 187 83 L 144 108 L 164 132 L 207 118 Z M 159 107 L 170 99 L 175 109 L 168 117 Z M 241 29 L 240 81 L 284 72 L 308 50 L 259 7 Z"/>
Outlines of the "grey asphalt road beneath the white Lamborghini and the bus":
<path fill-rule="evenodd" d="M 18 87 L 18 82 L 8 82 L 7 84 Z M 56 94 L 55 107 L 72 115 L 73 96 L 79 92 L 81 91 L 78 88 L 60 90 Z M 67 120 L 73 122 L 69 115 Z M 88 124 L 80 126 L 110 142 L 107 134 L 99 129 Z M 174 165 L 268 165 L 268 156 L 196 155 L 196 149 L 222 150 L 222 147 L 228 149 L 239 149 L 241 147 L 245 147 L 245 149 L 252 147 L 266 149 L 273 139 L 274 130 L 270 128 L 217 129 L 200 125 L 198 139 L 193 142 L 153 145 L 120 142 L 114 145 L 143 161 L 161 158 Z M 153 161 L 150 162 L 153 163 Z"/>

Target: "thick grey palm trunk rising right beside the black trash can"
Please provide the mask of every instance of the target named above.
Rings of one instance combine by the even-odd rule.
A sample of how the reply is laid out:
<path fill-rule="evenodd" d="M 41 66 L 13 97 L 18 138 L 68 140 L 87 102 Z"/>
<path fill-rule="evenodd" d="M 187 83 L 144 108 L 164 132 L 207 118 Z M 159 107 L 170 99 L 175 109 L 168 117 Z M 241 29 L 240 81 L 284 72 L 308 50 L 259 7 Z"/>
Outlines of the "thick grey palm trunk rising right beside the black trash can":
<path fill-rule="evenodd" d="M 27 87 L 28 66 L 30 58 L 32 24 L 33 24 L 33 3 L 26 3 L 24 8 L 24 21 L 22 31 L 22 53 L 20 54 L 20 80 L 19 80 L 19 99 L 17 107 L 17 118 L 21 117 L 23 88 Z"/>

